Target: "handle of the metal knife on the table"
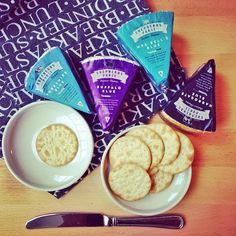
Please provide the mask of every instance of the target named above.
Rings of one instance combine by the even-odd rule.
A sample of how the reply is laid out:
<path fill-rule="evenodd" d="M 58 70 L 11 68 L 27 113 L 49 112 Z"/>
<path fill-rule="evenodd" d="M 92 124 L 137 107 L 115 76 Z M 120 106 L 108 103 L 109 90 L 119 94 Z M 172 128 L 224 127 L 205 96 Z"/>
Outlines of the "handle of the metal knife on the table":
<path fill-rule="evenodd" d="M 113 217 L 113 226 L 139 226 L 168 229 L 181 229 L 184 227 L 184 218 L 180 215 L 156 215 L 138 217 Z"/>

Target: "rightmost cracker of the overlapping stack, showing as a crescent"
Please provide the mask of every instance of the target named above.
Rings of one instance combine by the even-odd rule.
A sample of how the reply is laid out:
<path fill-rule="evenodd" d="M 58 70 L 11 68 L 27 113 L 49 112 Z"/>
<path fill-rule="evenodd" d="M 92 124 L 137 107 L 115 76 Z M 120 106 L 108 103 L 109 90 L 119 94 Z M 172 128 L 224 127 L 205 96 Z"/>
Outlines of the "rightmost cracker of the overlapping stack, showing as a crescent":
<path fill-rule="evenodd" d="M 168 165 L 159 166 L 160 170 L 171 174 L 177 174 L 186 170 L 194 159 L 194 147 L 190 139 L 180 132 L 177 132 L 177 134 L 181 143 L 178 157 Z"/>

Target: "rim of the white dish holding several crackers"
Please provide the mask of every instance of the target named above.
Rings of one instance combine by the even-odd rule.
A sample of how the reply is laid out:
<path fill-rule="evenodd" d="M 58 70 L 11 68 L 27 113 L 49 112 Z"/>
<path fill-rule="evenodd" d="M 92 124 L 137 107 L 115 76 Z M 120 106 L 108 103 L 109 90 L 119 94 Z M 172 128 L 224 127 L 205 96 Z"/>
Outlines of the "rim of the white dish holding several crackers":
<path fill-rule="evenodd" d="M 146 212 L 141 212 L 139 210 L 133 210 L 134 208 L 128 208 L 128 207 L 125 207 L 123 204 L 121 204 L 117 198 L 118 196 L 116 196 L 115 194 L 113 194 L 111 192 L 111 190 L 109 189 L 109 186 L 107 186 L 107 181 L 106 181 L 106 177 L 105 177 L 105 174 L 104 174 L 104 167 L 105 167 L 105 162 L 106 162 L 106 159 L 107 159 L 107 154 L 110 150 L 110 147 L 112 146 L 112 144 L 115 142 L 116 139 L 118 139 L 119 137 L 121 137 L 122 135 L 124 135 L 125 133 L 127 133 L 128 131 L 132 130 L 132 129 L 136 129 L 136 128 L 139 128 L 139 127 L 146 127 L 147 125 L 137 125 L 137 126 L 134 126 L 134 127 L 130 127 L 130 128 L 127 128 L 123 131 L 121 131 L 119 134 L 117 134 L 114 138 L 111 139 L 111 141 L 108 143 L 103 155 L 102 155 L 102 161 L 101 161 L 101 168 L 100 168 L 100 176 L 101 176 L 101 181 L 102 181 L 102 185 L 103 185 L 103 188 L 105 189 L 105 192 L 107 193 L 107 195 L 109 196 L 109 198 L 111 199 L 111 201 L 118 207 L 120 207 L 122 210 L 128 212 L 128 213 L 132 213 L 132 214 L 135 214 L 135 215 L 142 215 L 142 216 L 152 216 L 152 215 L 157 215 L 157 214 L 162 214 L 164 212 L 167 212 L 169 211 L 170 209 L 172 209 L 173 207 L 175 207 L 183 198 L 184 196 L 186 195 L 188 189 L 189 189 L 189 186 L 190 186 L 190 183 L 191 183 L 191 179 L 192 179 L 192 167 L 190 166 L 189 168 L 187 168 L 185 171 L 181 172 L 181 173 L 184 173 L 186 172 L 187 175 L 188 175 L 188 179 L 186 181 L 186 184 L 184 186 L 184 189 L 182 190 L 182 193 L 181 193 L 181 196 L 177 199 L 177 201 L 173 202 L 172 204 L 170 204 L 168 207 L 166 207 L 165 209 L 161 210 L 161 211 L 150 211 L 148 212 L 148 210 Z M 181 174 L 179 173 L 179 174 Z M 178 174 L 176 174 L 178 175 Z M 157 193 L 158 194 L 158 193 Z M 122 199 L 121 199 L 122 200 Z"/>

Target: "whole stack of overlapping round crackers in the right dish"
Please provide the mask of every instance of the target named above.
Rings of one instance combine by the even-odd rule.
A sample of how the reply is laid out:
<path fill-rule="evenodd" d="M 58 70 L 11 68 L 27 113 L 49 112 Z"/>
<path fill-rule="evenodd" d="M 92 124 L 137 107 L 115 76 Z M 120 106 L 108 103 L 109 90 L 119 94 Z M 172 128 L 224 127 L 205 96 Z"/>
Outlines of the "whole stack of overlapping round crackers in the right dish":
<path fill-rule="evenodd" d="M 132 128 L 109 150 L 108 182 L 114 194 L 135 201 L 166 189 L 193 162 L 190 139 L 163 123 Z"/>

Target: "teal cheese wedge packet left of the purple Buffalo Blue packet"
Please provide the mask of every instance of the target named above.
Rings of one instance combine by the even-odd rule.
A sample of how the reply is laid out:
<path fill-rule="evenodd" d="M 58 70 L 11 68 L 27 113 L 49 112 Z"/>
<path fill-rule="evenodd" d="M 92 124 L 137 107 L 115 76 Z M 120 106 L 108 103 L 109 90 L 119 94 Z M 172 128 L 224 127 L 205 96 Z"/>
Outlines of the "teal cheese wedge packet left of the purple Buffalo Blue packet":
<path fill-rule="evenodd" d="M 85 113 L 93 113 L 71 67 L 58 47 L 46 51 L 31 67 L 25 80 L 25 88 L 40 97 Z"/>

